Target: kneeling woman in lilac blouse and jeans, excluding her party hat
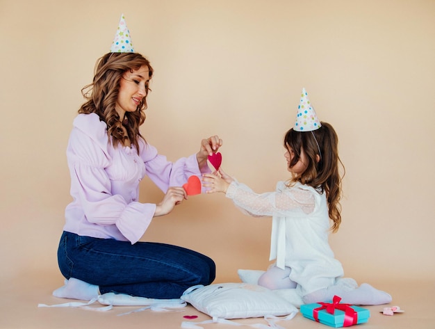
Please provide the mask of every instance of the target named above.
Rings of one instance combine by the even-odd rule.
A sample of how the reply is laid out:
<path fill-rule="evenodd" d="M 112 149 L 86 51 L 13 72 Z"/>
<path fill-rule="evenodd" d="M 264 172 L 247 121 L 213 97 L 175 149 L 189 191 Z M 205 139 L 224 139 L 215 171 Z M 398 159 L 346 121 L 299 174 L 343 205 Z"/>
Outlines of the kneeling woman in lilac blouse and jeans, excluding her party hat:
<path fill-rule="evenodd" d="M 67 279 L 54 296 L 90 300 L 115 292 L 147 298 L 179 298 L 195 284 L 211 284 L 212 259 L 163 243 L 138 241 L 152 218 L 169 214 L 187 199 L 183 184 L 210 172 L 208 155 L 222 145 L 202 140 L 197 154 L 172 163 L 142 138 L 153 69 L 134 52 L 99 59 L 92 83 L 83 88 L 69 137 L 67 160 L 73 201 L 58 248 Z M 165 193 L 158 204 L 141 203 L 140 180 L 148 177 Z"/>

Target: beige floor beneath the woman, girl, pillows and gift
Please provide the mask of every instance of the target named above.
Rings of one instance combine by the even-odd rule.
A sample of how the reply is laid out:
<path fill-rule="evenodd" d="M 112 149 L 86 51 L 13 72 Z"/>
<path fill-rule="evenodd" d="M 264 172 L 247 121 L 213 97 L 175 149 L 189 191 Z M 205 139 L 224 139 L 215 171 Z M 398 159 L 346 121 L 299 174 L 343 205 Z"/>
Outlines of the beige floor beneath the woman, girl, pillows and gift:
<path fill-rule="evenodd" d="M 55 273 L 28 273 L 20 278 L 1 282 L 0 286 L 0 328 L 180 328 L 184 315 L 197 315 L 195 321 L 210 319 L 192 306 L 181 312 L 136 312 L 117 316 L 138 307 L 115 307 L 108 312 L 92 312 L 73 308 L 41 308 L 38 303 L 65 303 L 51 296 L 51 291 L 60 286 L 62 280 Z M 392 305 L 399 305 L 405 312 L 394 316 L 379 313 L 383 306 L 370 306 L 368 323 L 359 328 L 435 328 L 435 280 L 432 282 L 370 282 L 393 295 Z M 265 323 L 263 319 L 239 319 L 238 323 Z M 290 321 L 280 321 L 284 328 L 329 328 L 297 314 Z M 208 328 L 234 328 L 233 326 L 211 323 Z M 247 327 L 249 328 L 249 327 Z"/>

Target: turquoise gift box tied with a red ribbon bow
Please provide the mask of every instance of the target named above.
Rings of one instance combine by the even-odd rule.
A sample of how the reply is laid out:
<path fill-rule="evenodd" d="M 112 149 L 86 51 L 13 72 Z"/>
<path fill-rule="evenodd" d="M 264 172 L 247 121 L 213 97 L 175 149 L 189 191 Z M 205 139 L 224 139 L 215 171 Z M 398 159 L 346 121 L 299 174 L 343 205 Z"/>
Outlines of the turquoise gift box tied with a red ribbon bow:
<path fill-rule="evenodd" d="M 334 302 L 332 303 L 301 305 L 300 311 L 307 319 L 318 321 L 334 328 L 352 326 L 354 324 L 366 323 L 368 321 L 368 318 L 370 317 L 369 310 L 355 305 L 340 304 L 339 301 L 341 298 L 336 297 L 337 296 L 334 296 Z M 346 314 L 348 317 L 345 323 Z M 317 320 L 315 319 L 315 316 L 317 316 Z"/>

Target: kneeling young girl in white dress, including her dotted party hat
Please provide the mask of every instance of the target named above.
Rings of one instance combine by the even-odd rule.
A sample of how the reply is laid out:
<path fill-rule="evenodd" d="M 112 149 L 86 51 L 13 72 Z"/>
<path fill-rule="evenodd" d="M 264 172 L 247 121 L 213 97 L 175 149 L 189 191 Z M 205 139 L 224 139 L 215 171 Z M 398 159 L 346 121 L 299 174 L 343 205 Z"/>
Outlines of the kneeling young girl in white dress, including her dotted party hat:
<path fill-rule="evenodd" d="M 207 193 L 226 193 L 227 198 L 252 216 L 272 216 L 270 259 L 276 264 L 258 279 L 268 289 L 297 289 L 304 303 L 326 302 L 334 295 L 343 303 L 379 305 L 391 296 L 370 284 L 344 287 L 337 284 L 343 267 L 334 258 L 329 231 L 340 226 L 341 177 L 338 137 L 327 122 L 319 122 L 305 90 L 295 126 L 284 137 L 287 182 L 274 192 L 257 194 L 222 169 L 203 175 Z M 331 227 L 329 227 L 331 220 Z"/>

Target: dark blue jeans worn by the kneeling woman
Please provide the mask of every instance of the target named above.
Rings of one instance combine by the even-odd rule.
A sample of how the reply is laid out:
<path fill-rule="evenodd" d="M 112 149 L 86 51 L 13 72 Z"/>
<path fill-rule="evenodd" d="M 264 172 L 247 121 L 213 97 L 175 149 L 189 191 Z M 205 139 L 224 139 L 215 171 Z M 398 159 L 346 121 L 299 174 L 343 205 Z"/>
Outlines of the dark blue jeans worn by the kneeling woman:
<path fill-rule="evenodd" d="M 65 278 L 147 298 L 179 298 L 196 284 L 215 280 L 215 263 L 193 250 L 165 243 L 116 241 L 63 232 L 58 264 Z"/>

